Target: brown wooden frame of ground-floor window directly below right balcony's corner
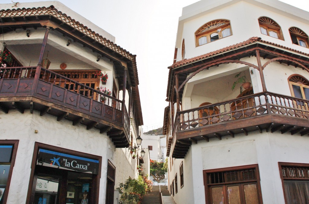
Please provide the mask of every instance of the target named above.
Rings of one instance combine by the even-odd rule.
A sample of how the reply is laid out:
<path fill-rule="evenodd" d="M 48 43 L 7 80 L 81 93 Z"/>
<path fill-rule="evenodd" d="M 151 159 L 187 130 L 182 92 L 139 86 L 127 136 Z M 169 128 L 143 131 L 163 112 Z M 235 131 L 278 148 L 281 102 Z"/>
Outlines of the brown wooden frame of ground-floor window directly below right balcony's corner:
<path fill-rule="evenodd" d="M 226 171 L 237 171 L 237 170 L 246 170 L 246 169 L 255 169 L 256 172 L 256 179 L 254 180 L 244 180 L 244 181 L 235 181 L 235 182 L 222 182 L 222 183 L 214 183 L 214 184 L 209 184 L 207 182 L 207 174 L 208 173 L 224 173 Z M 242 186 L 242 185 L 247 185 L 247 184 L 256 184 L 256 191 L 257 191 L 257 196 L 259 200 L 259 204 L 263 204 L 262 200 L 262 193 L 261 193 L 261 186 L 260 186 L 260 173 L 259 173 L 259 167 L 257 164 L 253 165 L 244 165 L 244 166 L 235 166 L 235 167 L 227 167 L 227 168 L 220 168 L 220 169 L 208 169 L 208 170 L 203 170 L 203 179 L 204 179 L 204 186 L 205 186 L 205 203 L 206 204 L 211 204 L 212 203 L 212 196 L 210 195 L 210 190 L 211 187 L 213 186 L 228 186 L 232 184 L 233 186 Z M 241 188 L 240 188 L 241 189 Z M 223 192 L 224 197 L 227 198 L 226 192 Z M 241 198 L 242 200 L 242 198 Z M 244 199 L 243 199 L 244 200 Z"/>

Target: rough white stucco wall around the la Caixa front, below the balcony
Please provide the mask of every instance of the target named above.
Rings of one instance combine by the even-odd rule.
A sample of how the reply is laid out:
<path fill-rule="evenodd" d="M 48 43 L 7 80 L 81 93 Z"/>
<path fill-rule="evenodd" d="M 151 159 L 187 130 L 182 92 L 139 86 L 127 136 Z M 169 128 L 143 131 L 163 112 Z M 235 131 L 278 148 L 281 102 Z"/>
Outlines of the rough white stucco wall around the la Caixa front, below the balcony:
<path fill-rule="evenodd" d="M 35 130 L 38 130 L 37 134 Z M 127 149 L 115 149 L 106 133 L 100 134 L 98 129 L 86 130 L 85 125 L 73 126 L 68 120 L 58 122 L 57 117 L 40 116 L 38 111 L 31 114 L 25 110 L 21 114 L 10 110 L 8 114 L 0 112 L 0 132 L 0 140 L 19 140 L 7 204 L 26 200 L 35 142 L 101 156 L 99 203 L 105 203 L 108 160 L 116 167 L 115 189 L 119 182 L 136 175 L 136 159 L 129 156 Z"/>

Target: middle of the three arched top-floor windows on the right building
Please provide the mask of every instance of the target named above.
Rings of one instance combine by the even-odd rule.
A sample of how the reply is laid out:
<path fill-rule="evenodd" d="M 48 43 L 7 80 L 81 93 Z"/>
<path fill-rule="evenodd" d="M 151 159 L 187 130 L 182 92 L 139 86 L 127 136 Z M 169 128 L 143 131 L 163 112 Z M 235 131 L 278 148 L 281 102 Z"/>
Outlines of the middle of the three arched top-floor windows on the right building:
<path fill-rule="evenodd" d="M 259 24 L 262 34 L 284 40 L 281 27 L 273 19 L 262 16 L 259 18 Z"/>

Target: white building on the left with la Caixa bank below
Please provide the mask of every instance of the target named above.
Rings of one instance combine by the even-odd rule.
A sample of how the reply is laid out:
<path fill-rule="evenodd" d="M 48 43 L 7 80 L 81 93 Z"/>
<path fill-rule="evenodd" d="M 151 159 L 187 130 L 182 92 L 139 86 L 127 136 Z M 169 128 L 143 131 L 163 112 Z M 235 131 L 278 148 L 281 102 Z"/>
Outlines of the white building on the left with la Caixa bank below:
<path fill-rule="evenodd" d="M 0 9 L 0 203 L 116 203 L 141 156 L 136 55 L 60 2 Z"/>

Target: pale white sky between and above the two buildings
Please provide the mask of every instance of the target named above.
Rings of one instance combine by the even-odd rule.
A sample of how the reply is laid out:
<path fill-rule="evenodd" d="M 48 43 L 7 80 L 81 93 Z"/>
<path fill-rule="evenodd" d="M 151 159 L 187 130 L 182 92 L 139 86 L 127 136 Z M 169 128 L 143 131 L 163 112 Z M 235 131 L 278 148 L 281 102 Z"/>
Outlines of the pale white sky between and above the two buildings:
<path fill-rule="evenodd" d="M 168 105 L 165 101 L 167 67 L 173 63 L 178 18 L 181 16 L 182 7 L 197 0 L 59 1 L 115 36 L 117 45 L 137 55 L 143 130 L 162 127 L 164 108 Z M 309 0 L 282 2 L 309 11 Z M 0 3 L 12 1 L 0 0 Z"/>

